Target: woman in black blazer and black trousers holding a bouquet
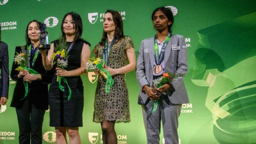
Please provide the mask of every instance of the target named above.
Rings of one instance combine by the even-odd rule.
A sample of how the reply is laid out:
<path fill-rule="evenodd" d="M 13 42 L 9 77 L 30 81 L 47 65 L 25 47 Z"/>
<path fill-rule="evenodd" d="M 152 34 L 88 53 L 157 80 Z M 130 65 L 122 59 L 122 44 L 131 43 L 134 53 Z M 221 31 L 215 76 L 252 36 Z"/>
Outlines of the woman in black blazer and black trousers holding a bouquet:
<path fill-rule="evenodd" d="M 13 62 L 11 78 L 16 81 L 11 106 L 16 108 L 19 125 L 19 144 L 42 144 L 42 124 L 45 110 L 48 109 L 48 84 L 52 80 L 53 72 L 46 71 L 42 65 L 42 55 L 38 52 L 39 32 L 41 22 L 33 20 L 26 27 L 25 49 L 30 53 L 28 68 L 38 74 L 30 74 L 27 70 L 17 71 L 18 64 Z M 21 46 L 16 52 L 20 53 Z M 25 96 L 24 82 L 28 83 L 28 94 Z"/>

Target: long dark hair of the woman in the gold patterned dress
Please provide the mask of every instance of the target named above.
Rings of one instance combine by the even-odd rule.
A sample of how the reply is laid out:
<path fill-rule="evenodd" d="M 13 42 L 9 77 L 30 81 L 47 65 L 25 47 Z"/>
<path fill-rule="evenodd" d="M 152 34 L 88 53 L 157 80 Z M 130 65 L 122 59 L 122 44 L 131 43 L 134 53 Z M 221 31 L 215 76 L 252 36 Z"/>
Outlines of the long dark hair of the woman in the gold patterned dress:
<path fill-rule="evenodd" d="M 120 40 L 121 38 L 124 37 L 122 16 L 121 16 L 121 14 L 120 14 L 118 11 L 116 11 L 116 10 L 107 10 L 107 11 L 105 12 L 105 14 L 108 13 L 108 12 L 112 14 L 114 23 L 116 24 L 116 29 L 115 29 L 115 33 L 114 33 L 114 38 L 118 41 L 118 40 Z M 107 32 L 104 32 L 104 30 L 103 30 L 103 34 L 102 34 L 102 38 L 101 38 L 100 45 L 104 46 L 107 38 L 108 38 L 108 37 L 107 37 Z"/>

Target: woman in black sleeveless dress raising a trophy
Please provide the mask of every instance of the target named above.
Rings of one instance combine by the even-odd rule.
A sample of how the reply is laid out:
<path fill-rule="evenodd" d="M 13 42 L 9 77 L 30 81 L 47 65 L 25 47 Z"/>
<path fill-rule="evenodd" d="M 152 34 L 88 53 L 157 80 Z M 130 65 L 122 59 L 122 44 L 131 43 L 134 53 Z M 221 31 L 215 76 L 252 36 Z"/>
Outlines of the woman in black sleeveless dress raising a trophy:
<path fill-rule="evenodd" d="M 67 143 L 66 133 L 68 133 L 69 143 L 80 144 L 78 127 L 83 124 L 84 108 L 84 87 L 80 75 L 87 72 L 85 66 L 91 55 L 90 44 L 80 38 L 82 36 L 82 19 L 77 13 L 70 12 L 64 16 L 61 32 L 68 42 L 68 47 L 71 48 L 68 52 L 68 66 L 64 69 L 53 66 L 52 54 L 58 40 L 52 42 L 47 56 L 45 50 L 41 52 L 44 68 L 56 70 L 49 90 L 50 126 L 55 127 L 57 144 Z M 64 92 L 59 88 L 57 76 L 63 76 L 67 80 L 68 85 L 63 81 L 61 83 L 64 86 Z M 71 89 L 69 100 L 68 86 Z"/>

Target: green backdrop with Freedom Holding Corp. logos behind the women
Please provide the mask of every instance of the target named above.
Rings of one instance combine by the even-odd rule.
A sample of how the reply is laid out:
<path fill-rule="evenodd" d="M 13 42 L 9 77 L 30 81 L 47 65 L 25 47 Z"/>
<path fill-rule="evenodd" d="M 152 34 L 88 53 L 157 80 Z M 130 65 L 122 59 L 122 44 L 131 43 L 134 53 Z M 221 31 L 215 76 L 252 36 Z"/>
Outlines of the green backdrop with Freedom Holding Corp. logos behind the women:
<path fill-rule="evenodd" d="M 255 5 L 255 0 L 0 0 L 0 24 L 11 66 L 15 47 L 25 44 L 25 29 L 31 20 L 45 22 L 52 41 L 60 35 L 64 14 L 77 12 L 83 20 L 82 38 L 92 44 L 92 50 L 102 36 L 102 14 L 114 9 L 121 13 L 124 34 L 131 36 L 138 56 L 141 40 L 156 33 L 151 20 L 153 10 L 168 6 L 176 14 L 173 34 L 183 35 L 188 46 L 189 69 L 184 82 L 190 103 L 182 105 L 180 143 L 255 144 Z M 126 76 L 131 122 L 116 124 L 118 144 L 146 144 L 135 71 Z M 88 73 L 82 80 L 82 144 L 101 144 L 100 124 L 92 122 L 97 79 Z M 9 100 L 0 109 L 0 144 L 18 144 L 16 112 L 10 107 L 14 87 L 10 79 Z M 55 143 L 49 112 L 44 117 L 43 134 L 44 144 Z M 162 133 L 160 144 L 164 144 Z"/>

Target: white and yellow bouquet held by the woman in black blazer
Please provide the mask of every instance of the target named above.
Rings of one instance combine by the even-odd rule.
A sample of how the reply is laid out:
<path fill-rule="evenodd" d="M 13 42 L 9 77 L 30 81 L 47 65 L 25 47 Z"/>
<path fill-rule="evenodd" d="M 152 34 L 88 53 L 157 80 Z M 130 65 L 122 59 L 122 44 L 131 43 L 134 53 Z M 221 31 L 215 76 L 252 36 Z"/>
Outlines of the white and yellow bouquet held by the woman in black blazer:
<path fill-rule="evenodd" d="M 25 50 L 25 46 L 22 46 L 20 53 L 16 52 L 14 57 L 15 64 L 20 65 L 15 70 L 22 71 L 23 68 L 28 66 L 28 52 Z"/>

